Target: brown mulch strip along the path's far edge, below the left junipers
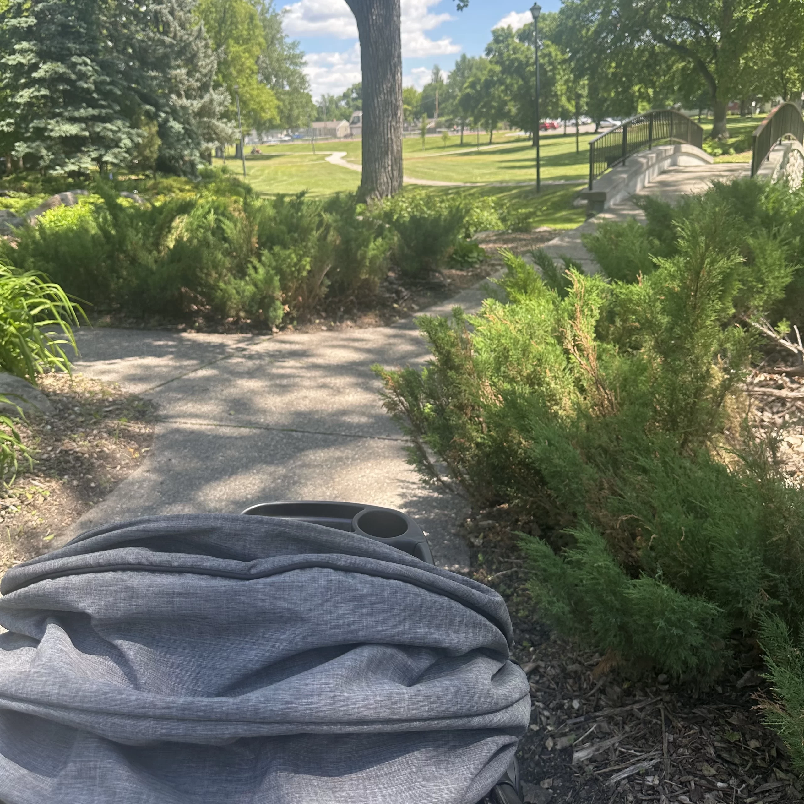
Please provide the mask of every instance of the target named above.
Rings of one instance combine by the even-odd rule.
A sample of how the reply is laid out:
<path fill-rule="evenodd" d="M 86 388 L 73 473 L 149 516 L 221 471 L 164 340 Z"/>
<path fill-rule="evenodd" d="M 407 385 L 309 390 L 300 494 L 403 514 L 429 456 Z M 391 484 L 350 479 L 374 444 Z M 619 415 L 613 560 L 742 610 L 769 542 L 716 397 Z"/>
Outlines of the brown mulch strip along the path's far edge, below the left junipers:
<path fill-rule="evenodd" d="M 486 252 L 486 260 L 479 265 L 465 269 L 442 268 L 424 280 L 414 280 L 391 271 L 380 282 L 375 293 L 325 299 L 313 314 L 282 326 L 281 330 L 317 332 L 394 324 L 419 314 L 429 306 L 446 301 L 502 269 L 503 260 L 499 256 L 501 248 L 510 248 L 515 254 L 523 254 L 548 243 L 555 236 L 556 231 L 547 227 L 540 227 L 533 232 L 483 232 L 475 238 Z M 219 334 L 266 334 L 280 331 L 280 328 L 266 328 L 251 321 L 208 321 L 203 317 L 193 322 L 176 324 L 162 321 L 142 322 L 133 318 L 105 315 L 92 318 L 92 325 Z"/>

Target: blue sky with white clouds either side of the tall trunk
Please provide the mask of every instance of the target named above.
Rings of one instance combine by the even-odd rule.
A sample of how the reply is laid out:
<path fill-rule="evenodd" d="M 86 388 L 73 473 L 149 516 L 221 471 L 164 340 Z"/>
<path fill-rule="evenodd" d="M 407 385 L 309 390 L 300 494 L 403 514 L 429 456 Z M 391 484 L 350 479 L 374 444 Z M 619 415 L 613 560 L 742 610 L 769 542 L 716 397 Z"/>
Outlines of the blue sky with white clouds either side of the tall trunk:
<path fill-rule="evenodd" d="M 456 11 L 453 0 L 401 0 L 404 84 L 421 88 L 433 64 L 449 72 L 461 53 L 481 55 L 491 29 L 505 21 L 522 25 L 531 18 L 532 0 L 470 0 Z M 544 11 L 560 0 L 541 0 Z M 355 18 L 344 0 L 296 0 L 285 10 L 285 33 L 301 42 L 313 97 L 339 94 L 360 80 L 360 49 Z"/>

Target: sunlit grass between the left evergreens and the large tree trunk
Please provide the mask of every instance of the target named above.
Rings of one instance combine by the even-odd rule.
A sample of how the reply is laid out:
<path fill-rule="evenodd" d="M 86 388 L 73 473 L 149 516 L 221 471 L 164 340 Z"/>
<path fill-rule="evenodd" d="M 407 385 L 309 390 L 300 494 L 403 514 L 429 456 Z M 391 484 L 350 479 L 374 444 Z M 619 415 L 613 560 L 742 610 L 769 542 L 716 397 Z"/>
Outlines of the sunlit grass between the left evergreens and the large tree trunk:
<path fill-rule="evenodd" d="M 213 160 L 215 166 L 223 162 Z M 240 161 L 229 158 L 229 170 L 240 174 Z M 259 193 L 298 193 L 307 191 L 312 196 L 332 195 L 338 192 L 355 192 L 360 184 L 357 170 L 330 165 L 318 154 L 263 154 L 246 157 L 248 183 Z"/>

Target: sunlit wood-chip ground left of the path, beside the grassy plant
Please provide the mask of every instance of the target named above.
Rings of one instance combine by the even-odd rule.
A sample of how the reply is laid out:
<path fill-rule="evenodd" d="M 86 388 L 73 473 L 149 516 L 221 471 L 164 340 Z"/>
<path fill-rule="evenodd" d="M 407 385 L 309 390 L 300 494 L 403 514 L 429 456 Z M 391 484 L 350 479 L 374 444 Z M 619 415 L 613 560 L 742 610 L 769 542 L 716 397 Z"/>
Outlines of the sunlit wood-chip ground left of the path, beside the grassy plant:
<path fill-rule="evenodd" d="M 100 503 L 147 456 L 154 406 L 83 375 L 44 375 L 39 390 L 55 415 L 19 426 L 33 466 L 20 461 L 0 497 L 0 573 L 47 552 L 52 539 Z"/>

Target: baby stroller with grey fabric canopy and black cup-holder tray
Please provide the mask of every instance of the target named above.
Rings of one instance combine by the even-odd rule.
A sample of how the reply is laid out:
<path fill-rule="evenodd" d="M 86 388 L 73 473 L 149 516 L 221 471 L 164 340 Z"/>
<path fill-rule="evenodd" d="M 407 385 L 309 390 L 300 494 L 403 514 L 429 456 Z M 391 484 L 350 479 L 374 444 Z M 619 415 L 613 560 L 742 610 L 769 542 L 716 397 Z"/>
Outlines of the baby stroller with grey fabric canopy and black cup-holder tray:
<path fill-rule="evenodd" d="M 134 519 L 0 592 L 4 804 L 521 802 L 506 606 L 399 511 Z"/>

